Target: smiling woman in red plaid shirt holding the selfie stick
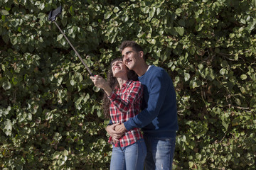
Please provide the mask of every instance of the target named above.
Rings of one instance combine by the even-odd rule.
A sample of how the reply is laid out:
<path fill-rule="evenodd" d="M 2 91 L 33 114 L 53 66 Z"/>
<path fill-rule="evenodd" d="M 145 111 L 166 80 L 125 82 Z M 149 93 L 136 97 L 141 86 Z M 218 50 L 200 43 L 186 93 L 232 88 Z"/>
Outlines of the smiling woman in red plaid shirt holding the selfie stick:
<path fill-rule="evenodd" d="M 124 65 L 122 59 L 113 60 L 110 67 L 107 81 L 99 75 L 90 79 L 105 91 L 104 113 L 110 115 L 112 123 L 124 123 L 139 113 L 143 87 L 139 81 L 134 81 L 137 75 Z M 124 132 L 119 139 L 110 137 L 109 142 L 113 145 L 111 170 L 144 169 L 146 145 L 138 128 Z"/>

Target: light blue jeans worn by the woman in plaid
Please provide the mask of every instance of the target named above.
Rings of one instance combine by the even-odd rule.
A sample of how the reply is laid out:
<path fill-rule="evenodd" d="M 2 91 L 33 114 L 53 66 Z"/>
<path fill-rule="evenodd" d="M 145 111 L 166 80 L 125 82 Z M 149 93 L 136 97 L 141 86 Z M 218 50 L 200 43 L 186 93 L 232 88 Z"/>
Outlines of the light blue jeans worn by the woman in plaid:
<path fill-rule="evenodd" d="M 127 147 L 113 147 L 110 170 L 143 170 L 145 157 L 146 145 L 143 139 Z"/>

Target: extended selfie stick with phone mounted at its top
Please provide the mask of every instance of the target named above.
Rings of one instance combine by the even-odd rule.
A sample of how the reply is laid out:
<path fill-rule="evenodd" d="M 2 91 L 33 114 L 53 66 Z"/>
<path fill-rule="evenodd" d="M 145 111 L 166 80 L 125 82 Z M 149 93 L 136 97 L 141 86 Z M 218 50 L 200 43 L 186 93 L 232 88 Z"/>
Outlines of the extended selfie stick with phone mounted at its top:
<path fill-rule="evenodd" d="M 60 29 L 60 27 L 58 26 L 58 24 L 55 22 L 55 18 L 60 15 L 62 11 L 61 6 L 59 6 L 58 8 L 56 8 L 53 11 L 50 11 L 49 15 L 48 15 L 48 21 L 52 21 L 55 23 L 55 25 L 58 27 L 58 29 L 60 30 L 60 32 L 64 35 L 65 39 L 68 41 L 68 43 L 70 44 L 70 46 L 73 48 L 73 50 L 75 51 L 75 54 L 78 55 L 79 59 L 81 60 L 82 64 L 84 64 L 85 68 L 87 69 L 87 71 L 90 73 L 90 76 L 94 76 L 92 74 L 92 71 L 90 70 L 90 68 L 87 66 L 87 64 L 85 64 L 84 60 L 82 60 L 82 57 L 78 54 L 77 50 L 75 50 L 75 47 L 71 44 L 70 40 L 68 40 L 68 38 L 66 37 L 66 35 L 63 33 L 63 30 Z"/>

